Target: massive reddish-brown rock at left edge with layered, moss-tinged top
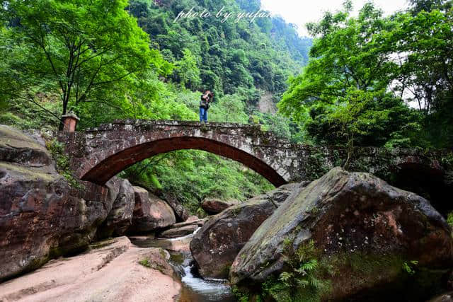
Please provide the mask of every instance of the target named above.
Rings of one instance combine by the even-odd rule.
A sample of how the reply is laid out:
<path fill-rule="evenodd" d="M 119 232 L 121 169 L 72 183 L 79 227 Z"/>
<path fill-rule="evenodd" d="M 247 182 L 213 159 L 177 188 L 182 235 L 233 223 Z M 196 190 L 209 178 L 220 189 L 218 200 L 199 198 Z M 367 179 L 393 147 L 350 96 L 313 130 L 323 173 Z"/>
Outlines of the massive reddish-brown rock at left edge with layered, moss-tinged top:
<path fill-rule="evenodd" d="M 91 202 L 73 193 L 44 146 L 0 126 L 0 281 L 93 239 L 112 207 L 111 194 Z"/>

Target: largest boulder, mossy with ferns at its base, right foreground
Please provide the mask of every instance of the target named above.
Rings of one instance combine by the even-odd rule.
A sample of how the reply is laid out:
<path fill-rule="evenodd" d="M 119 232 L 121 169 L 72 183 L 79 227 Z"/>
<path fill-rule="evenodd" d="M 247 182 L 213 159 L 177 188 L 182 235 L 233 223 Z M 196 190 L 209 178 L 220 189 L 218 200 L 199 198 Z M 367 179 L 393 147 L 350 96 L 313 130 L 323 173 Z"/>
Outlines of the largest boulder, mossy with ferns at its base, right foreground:
<path fill-rule="evenodd" d="M 295 270 L 313 260 L 316 271 Z M 251 291 L 281 272 L 326 284 L 323 291 L 287 289 L 296 298 L 421 301 L 452 263 L 449 226 L 426 199 L 368 173 L 334 168 L 261 224 L 229 277 Z"/>

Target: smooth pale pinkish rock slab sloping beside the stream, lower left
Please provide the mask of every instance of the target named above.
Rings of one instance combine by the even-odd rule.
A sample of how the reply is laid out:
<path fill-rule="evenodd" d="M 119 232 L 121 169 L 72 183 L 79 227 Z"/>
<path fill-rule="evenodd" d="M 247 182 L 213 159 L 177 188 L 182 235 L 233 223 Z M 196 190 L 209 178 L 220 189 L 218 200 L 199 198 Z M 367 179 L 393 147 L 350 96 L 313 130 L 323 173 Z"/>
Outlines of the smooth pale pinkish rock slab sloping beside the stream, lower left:
<path fill-rule="evenodd" d="M 137 248 L 126 237 L 105 240 L 0 284 L 0 301 L 174 301 L 180 285 L 168 258 L 168 252 Z M 149 267 L 139 264 L 143 260 Z"/>

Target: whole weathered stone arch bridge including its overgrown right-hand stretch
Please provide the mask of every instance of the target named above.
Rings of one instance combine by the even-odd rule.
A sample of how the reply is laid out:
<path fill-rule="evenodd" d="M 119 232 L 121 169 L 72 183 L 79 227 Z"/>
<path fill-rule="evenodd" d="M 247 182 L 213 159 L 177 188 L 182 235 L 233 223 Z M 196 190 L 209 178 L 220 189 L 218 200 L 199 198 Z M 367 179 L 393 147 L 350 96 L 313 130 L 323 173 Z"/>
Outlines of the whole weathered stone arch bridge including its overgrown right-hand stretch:
<path fill-rule="evenodd" d="M 259 125 L 124 120 L 83 132 L 59 132 L 75 176 L 104 185 L 125 168 L 159 153 L 199 149 L 239 161 L 273 185 L 313 180 L 345 162 L 347 153 L 327 146 L 291 144 Z M 350 170 L 365 170 L 389 180 L 389 171 L 418 169 L 443 178 L 439 154 L 399 149 L 355 149 Z M 431 176 L 430 176 L 431 177 Z"/>

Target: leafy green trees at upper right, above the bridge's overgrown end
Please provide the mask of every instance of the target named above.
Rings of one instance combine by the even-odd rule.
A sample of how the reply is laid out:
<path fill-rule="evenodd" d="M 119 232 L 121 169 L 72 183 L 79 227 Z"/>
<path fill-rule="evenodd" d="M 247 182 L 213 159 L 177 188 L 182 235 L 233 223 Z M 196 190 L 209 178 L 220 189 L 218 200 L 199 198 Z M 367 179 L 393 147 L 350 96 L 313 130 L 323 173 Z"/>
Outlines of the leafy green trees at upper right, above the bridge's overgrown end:
<path fill-rule="evenodd" d="M 384 17 L 365 4 L 354 18 L 351 9 L 347 1 L 307 25 L 317 37 L 311 59 L 280 111 L 316 144 L 452 146 L 452 11 Z"/>

